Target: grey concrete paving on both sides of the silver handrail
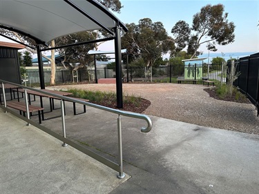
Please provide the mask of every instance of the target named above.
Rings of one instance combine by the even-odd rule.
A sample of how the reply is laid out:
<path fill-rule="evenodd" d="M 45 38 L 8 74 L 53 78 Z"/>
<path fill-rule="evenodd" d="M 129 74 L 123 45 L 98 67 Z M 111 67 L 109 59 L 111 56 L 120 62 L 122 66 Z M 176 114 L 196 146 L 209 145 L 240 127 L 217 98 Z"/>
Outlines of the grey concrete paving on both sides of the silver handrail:
<path fill-rule="evenodd" d="M 74 116 L 72 107 L 66 103 L 67 137 L 116 162 L 117 115 L 87 108 Z M 141 133 L 144 121 L 122 117 L 124 172 L 131 176 L 122 183 L 110 168 L 0 113 L 0 192 L 258 193 L 258 135 L 151 119 L 153 129 Z M 61 133 L 60 117 L 43 125 Z"/>

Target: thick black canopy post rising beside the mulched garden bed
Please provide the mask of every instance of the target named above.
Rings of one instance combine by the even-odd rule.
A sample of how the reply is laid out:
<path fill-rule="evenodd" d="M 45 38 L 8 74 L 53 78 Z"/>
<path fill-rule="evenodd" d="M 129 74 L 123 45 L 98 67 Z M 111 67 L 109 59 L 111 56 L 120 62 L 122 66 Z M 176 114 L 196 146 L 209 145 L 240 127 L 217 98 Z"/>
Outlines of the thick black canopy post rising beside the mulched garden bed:
<path fill-rule="evenodd" d="M 117 108 L 123 108 L 122 100 L 122 43 L 119 26 L 115 28 L 115 64 L 116 64 L 116 94 Z"/>

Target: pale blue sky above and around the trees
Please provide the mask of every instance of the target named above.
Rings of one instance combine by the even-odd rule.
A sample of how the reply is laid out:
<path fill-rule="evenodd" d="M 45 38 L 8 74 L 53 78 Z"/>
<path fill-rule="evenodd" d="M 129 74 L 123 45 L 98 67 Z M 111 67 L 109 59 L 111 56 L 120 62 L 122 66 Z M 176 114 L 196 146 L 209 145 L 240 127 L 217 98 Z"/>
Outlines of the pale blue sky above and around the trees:
<path fill-rule="evenodd" d="M 156 0 L 120 0 L 122 6 L 119 14 L 115 16 L 123 23 L 137 24 L 140 19 L 150 18 L 153 22 L 161 21 L 169 36 L 173 37 L 171 29 L 179 20 L 184 20 L 192 25 L 193 15 L 207 4 L 222 3 L 224 12 L 228 12 L 227 19 L 233 21 L 235 28 L 235 41 L 226 46 L 216 46 L 220 56 L 229 52 L 259 52 L 259 0 L 225 0 L 225 1 L 156 1 Z M 114 50 L 113 42 L 99 46 L 99 50 Z M 205 54 L 206 45 L 201 46 Z M 211 53 L 212 54 L 212 53 Z"/>

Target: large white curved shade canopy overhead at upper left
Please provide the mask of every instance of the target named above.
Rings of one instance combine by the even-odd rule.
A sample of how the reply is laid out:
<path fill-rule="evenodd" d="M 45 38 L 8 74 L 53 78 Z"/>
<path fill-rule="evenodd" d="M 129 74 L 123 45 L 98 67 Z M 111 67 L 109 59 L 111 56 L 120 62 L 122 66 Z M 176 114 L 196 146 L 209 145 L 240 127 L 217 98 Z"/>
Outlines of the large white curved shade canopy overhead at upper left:
<path fill-rule="evenodd" d="M 44 43 L 75 32 L 117 26 L 127 30 L 94 0 L 0 0 L 0 28 L 23 32 Z"/>

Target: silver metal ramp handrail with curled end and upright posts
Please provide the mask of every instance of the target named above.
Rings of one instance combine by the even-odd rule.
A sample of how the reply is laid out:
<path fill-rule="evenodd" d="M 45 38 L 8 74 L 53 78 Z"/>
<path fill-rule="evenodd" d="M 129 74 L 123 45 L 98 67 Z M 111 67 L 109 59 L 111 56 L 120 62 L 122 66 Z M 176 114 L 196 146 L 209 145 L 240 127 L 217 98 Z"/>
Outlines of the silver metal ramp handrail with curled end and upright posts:
<path fill-rule="evenodd" d="M 9 110 L 9 109 L 6 107 L 6 93 L 5 93 L 4 84 L 12 84 L 13 86 L 17 86 L 17 88 L 24 88 L 25 89 L 24 95 L 25 95 L 25 102 L 26 102 L 26 107 L 27 108 L 28 108 L 28 97 L 27 97 L 28 94 L 27 94 L 26 90 L 33 90 L 33 91 L 38 92 L 38 93 L 43 93 L 45 95 L 51 95 L 53 97 L 57 97 L 57 98 L 61 99 L 60 100 L 60 103 L 61 103 L 61 122 L 62 122 L 62 128 L 63 128 L 63 136 L 58 135 L 57 133 L 52 132 L 51 130 L 49 130 L 48 128 L 46 128 L 46 127 L 44 127 L 42 125 L 39 125 L 39 124 L 37 124 L 35 122 L 32 122 L 30 120 L 30 117 L 28 116 L 29 114 L 27 114 L 27 118 L 26 118 L 26 117 L 20 117 L 18 114 L 16 114 L 12 110 L 9 110 L 9 112 L 11 112 L 14 115 L 16 115 L 16 116 L 20 117 L 21 119 L 25 120 L 26 122 L 28 122 L 28 124 L 32 124 L 32 125 L 36 126 L 37 128 L 40 128 L 41 130 L 44 130 L 46 133 L 56 137 L 57 139 L 60 139 L 61 141 L 64 142 L 63 146 L 66 146 L 66 145 L 69 144 L 70 146 L 73 146 L 74 148 L 77 148 L 77 150 L 79 150 L 79 151 L 81 151 L 83 153 L 86 153 L 87 155 L 90 155 L 90 157 L 93 157 L 93 158 L 97 159 L 99 162 L 102 162 L 103 164 L 106 164 L 110 168 L 113 168 L 115 171 L 119 172 L 119 175 L 117 175 L 117 177 L 119 177 L 119 178 L 123 178 L 124 177 L 123 168 L 122 168 L 122 125 L 121 125 L 121 115 L 125 116 L 125 117 L 132 117 L 132 118 L 136 118 L 136 119 L 143 119 L 143 120 L 145 120 L 146 123 L 147 123 L 147 126 L 141 128 L 141 131 L 143 133 L 148 133 L 151 130 L 151 128 L 152 128 L 151 119 L 147 115 L 143 115 L 143 114 L 139 114 L 139 113 L 126 112 L 124 110 L 116 110 L 116 109 L 113 109 L 113 108 L 108 108 L 108 107 L 100 106 L 100 105 L 97 105 L 97 104 L 91 104 L 89 102 L 81 101 L 79 99 L 73 99 L 72 97 L 65 97 L 65 96 L 54 94 L 54 93 L 49 93 L 47 91 L 39 90 L 39 89 L 36 89 L 36 88 L 30 88 L 28 86 L 23 86 L 23 85 L 20 85 L 20 84 L 15 84 L 15 83 L 12 83 L 10 81 L 5 81 L 5 80 L 2 80 L 2 79 L 0 79 L 0 83 L 1 83 L 1 86 L 2 86 L 2 90 L 3 90 L 3 101 L 4 101 L 4 107 L 1 106 L 1 108 L 5 109 L 6 111 Z M 0 95 L 1 95 L 1 93 L 0 93 Z M 86 105 L 86 106 L 90 106 L 90 107 L 93 107 L 93 108 L 97 108 L 99 110 L 104 110 L 104 111 L 107 111 L 109 113 L 114 113 L 114 114 L 118 115 L 118 118 L 117 118 L 117 130 L 118 130 L 119 164 L 115 164 L 114 162 L 111 162 L 110 160 L 106 159 L 105 157 L 102 157 L 102 156 L 98 155 L 97 153 L 94 153 L 93 151 L 90 151 L 87 148 L 84 148 L 84 147 L 80 146 L 79 144 L 75 144 L 75 142 L 72 142 L 70 139 L 66 138 L 64 100 L 75 102 L 75 103 L 78 103 L 78 104 L 83 104 L 83 105 Z M 87 151 L 85 149 L 87 149 Z"/>

